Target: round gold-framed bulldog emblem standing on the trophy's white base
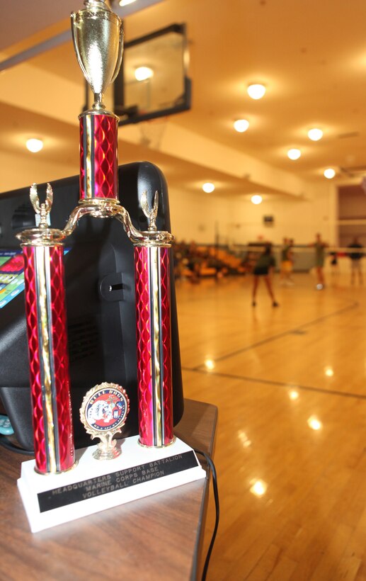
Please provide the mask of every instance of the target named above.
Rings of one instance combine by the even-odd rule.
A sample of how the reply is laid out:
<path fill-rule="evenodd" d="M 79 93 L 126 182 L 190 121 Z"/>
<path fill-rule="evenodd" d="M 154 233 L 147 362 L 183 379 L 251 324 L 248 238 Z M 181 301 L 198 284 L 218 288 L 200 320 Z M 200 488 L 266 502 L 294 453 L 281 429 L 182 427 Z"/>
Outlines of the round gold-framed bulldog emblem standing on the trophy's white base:
<path fill-rule="evenodd" d="M 101 383 L 86 393 L 80 408 L 80 419 L 92 439 L 101 439 L 93 452 L 96 460 L 112 460 L 120 456 L 121 451 L 113 436 L 120 433 L 129 411 L 127 393 L 116 383 Z"/>

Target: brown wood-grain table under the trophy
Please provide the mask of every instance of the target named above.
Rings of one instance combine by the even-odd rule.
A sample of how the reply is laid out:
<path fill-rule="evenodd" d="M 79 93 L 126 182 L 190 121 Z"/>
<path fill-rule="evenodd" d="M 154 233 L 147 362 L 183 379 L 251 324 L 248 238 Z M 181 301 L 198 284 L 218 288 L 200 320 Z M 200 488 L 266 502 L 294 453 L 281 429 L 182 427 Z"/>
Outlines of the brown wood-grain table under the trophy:
<path fill-rule="evenodd" d="M 212 455 L 216 422 L 215 406 L 185 400 L 175 433 L 193 448 Z M 21 462 L 28 459 L 0 448 L 1 579 L 178 581 L 197 577 L 208 477 L 32 534 L 16 486 Z"/>

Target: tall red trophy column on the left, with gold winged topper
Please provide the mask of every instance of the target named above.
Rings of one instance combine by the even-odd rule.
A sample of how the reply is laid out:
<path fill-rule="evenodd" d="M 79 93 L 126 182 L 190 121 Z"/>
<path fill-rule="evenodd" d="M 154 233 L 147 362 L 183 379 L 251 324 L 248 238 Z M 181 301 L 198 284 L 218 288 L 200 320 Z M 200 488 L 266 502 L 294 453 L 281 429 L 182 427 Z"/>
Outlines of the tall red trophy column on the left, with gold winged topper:
<path fill-rule="evenodd" d="M 33 189 L 33 199 L 32 199 Z M 52 190 L 47 189 L 47 201 Z M 30 390 L 33 404 L 35 465 L 40 473 L 60 473 L 75 463 L 70 400 L 69 358 L 64 287 L 62 232 L 47 226 L 45 204 L 31 188 L 38 228 L 25 230 L 25 314 L 27 319 Z M 48 211 L 50 211 L 50 205 Z M 38 204 L 38 205 L 37 205 Z"/>

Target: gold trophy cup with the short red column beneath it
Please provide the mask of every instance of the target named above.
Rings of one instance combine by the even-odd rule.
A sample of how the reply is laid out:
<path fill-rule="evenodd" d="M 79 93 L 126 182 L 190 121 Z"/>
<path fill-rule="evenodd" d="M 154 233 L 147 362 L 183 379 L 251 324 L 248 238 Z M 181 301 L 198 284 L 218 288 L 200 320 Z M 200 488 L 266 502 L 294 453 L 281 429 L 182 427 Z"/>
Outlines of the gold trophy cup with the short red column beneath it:
<path fill-rule="evenodd" d="M 122 21 L 104 0 L 85 0 L 73 12 L 76 57 L 94 94 L 91 109 L 80 120 L 79 203 L 118 204 L 118 117 L 105 110 L 103 93 L 117 77 L 122 62 Z"/>

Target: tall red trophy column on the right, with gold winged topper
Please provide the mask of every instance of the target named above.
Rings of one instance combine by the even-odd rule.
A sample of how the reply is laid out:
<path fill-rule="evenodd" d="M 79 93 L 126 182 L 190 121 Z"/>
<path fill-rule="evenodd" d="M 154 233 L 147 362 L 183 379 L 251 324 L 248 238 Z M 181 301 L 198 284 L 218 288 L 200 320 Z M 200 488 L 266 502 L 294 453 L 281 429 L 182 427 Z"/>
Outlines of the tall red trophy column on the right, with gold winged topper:
<path fill-rule="evenodd" d="M 135 244 L 139 443 L 168 446 L 174 441 L 171 385 L 171 305 L 169 252 L 173 236 L 155 227 L 157 196 L 149 212 L 149 232 Z"/>

